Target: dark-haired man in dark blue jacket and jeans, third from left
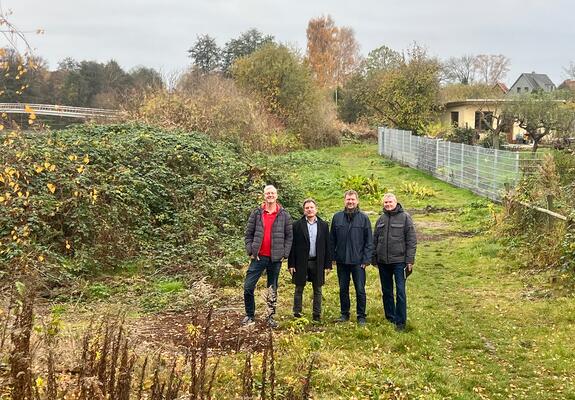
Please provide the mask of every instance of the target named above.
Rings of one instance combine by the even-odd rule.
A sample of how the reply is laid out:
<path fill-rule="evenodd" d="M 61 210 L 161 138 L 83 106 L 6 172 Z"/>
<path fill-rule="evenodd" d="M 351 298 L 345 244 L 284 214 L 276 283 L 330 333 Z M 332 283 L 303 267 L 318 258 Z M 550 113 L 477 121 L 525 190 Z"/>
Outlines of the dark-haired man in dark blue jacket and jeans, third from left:
<path fill-rule="evenodd" d="M 359 210 L 359 196 L 355 190 L 345 192 L 344 204 L 344 210 L 331 220 L 332 254 L 337 263 L 341 307 L 338 322 L 349 321 L 351 275 L 357 302 L 357 323 L 363 326 L 366 322 L 365 267 L 371 261 L 373 251 L 371 223 L 368 216 Z"/>

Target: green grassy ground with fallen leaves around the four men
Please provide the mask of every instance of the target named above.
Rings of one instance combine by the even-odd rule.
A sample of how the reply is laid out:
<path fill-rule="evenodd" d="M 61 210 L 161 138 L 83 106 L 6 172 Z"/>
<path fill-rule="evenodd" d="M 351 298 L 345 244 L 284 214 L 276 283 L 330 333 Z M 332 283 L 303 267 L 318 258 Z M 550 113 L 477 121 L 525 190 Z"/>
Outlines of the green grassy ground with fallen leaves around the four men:
<path fill-rule="evenodd" d="M 353 181 L 350 177 L 371 178 L 378 194 L 361 197 L 360 207 L 372 224 L 381 211 L 379 195 L 393 191 L 412 213 L 419 237 L 415 271 L 408 280 L 404 333 L 396 332 L 383 316 L 379 278 L 373 266 L 367 270 L 365 328 L 354 322 L 353 289 L 352 322 L 333 322 L 339 316 L 335 271 L 324 286 L 322 322 L 310 321 L 311 287 L 304 294 L 304 318 L 294 319 L 293 285 L 283 269 L 277 315 L 280 327 L 274 334 L 276 398 L 287 398 L 289 388 L 301 390 L 310 359 L 315 357 L 313 399 L 575 399 L 575 299 L 555 295 L 542 286 L 545 282 L 541 279 L 538 284 L 530 283 L 533 280 L 519 270 L 517 260 L 506 257 L 492 230 L 499 206 L 389 162 L 377 155 L 375 145 L 296 152 L 274 162 L 301 183 L 307 196 L 318 201 L 320 215 L 328 221 L 343 208 L 342 182 Z M 406 193 L 402 191 L 406 182 L 431 189 L 434 195 L 421 198 Z M 281 200 L 281 192 L 279 195 Z M 102 310 L 127 311 L 129 324 L 135 325 L 136 331 L 155 336 L 146 337 L 155 341 L 148 347 L 142 345 L 144 354 L 174 342 L 172 328 L 179 327 L 186 334 L 189 313 L 158 317 L 161 313 L 150 312 L 173 306 L 182 300 L 178 294 L 191 293 L 200 300 L 215 298 L 220 309 L 216 324 L 226 318 L 230 322 L 222 329 L 228 340 L 242 335 L 238 332 L 243 312 L 240 287 L 217 289 L 216 293 L 208 287 L 203 292 L 201 282 L 174 279 L 158 281 L 150 288 L 139 283 L 137 269 L 115 277 L 115 282 L 90 284 L 90 298 L 85 303 L 64 302 L 66 325 L 85 326 L 91 315 Z M 256 296 L 256 317 L 260 319 L 264 282 L 261 279 Z M 191 300 L 183 300 L 185 309 Z M 255 329 L 262 326 L 260 323 Z M 263 330 L 260 334 L 265 337 Z M 73 333 L 69 337 L 78 341 Z M 67 339 L 64 334 L 62 342 Z M 214 398 L 239 398 L 245 354 L 224 351 L 221 356 Z M 211 359 L 209 365 L 214 362 Z M 256 391 L 261 385 L 261 363 L 261 353 L 254 353 Z"/>

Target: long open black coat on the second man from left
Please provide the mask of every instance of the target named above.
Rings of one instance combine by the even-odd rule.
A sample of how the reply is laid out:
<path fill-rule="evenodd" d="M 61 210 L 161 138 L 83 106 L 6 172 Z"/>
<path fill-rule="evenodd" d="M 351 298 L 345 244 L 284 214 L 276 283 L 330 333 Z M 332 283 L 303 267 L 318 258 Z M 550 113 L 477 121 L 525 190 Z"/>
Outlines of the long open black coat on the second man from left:
<path fill-rule="evenodd" d="M 331 243 L 327 222 L 317 217 L 316 260 L 313 283 L 322 286 L 325 283 L 325 270 L 331 269 Z M 288 258 L 288 268 L 295 268 L 292 282 L 303 286 L 312 282 L 307 275 L 309 258 L 309 233 L 305 216 L 293 223 L 293 244 Z"/>

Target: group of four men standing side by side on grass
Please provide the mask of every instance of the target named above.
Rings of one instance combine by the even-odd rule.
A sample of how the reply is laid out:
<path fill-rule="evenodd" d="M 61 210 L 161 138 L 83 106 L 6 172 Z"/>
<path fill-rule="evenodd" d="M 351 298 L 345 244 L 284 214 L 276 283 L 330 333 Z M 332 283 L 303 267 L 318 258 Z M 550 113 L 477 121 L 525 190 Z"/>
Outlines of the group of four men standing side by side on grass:
<path fill-rule="evenodd" d="M 368 216 L 359 209 L 359 196 L 354 190 L 345 192 L 345 208 L 333 216 L 331 230 L 327 222 L 317 216 L 315 200 L 304 200 L 304 216 L 292 224 L 290 214 L 277 198 L 276 188 L 266 186 L 264 203 L 248 219 L 245 245 L 251 262 L 244 281 L 246 316 L 242 324 L 254 323 L 254 290 L 265 271 L 267 287 L 272 290 L 267 323 L 270 327 L 277 326 L 274 314 L 278 278 L 281 263 L 287 260 L 295 284 L 294 317 L 302 315 L 304 287 L 311 282 L 312 317 L 314 321 L 320 321 L 325 270 L 331 270 L 335 262 L 341 310 L 337 321 L 350 319 L 349 284 L 353 280 L 357 322 L 365 325 L 365 268 L 372 264 L 379 269 L 385 318 L 395 324 L 397 330 L 404 330 L 407 321 L 405 281 L 413 269 L 417 241 L 413 221 L 395 195 L 384 195 L 383 213 L 373 234 Z"/>

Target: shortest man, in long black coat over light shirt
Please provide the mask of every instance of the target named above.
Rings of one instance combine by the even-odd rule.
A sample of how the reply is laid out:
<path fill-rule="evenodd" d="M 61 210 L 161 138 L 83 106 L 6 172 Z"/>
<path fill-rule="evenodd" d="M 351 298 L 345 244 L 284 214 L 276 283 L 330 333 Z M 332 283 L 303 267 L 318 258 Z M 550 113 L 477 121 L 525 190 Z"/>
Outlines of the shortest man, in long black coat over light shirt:
<path fill-rule="evenodd" d="M 313 320 L 321 318 L 321 288 L 325 283 L 325 270 L 331 270 L 331 245 L 327 222 L 317 216 L 313 199 L 303 202 L 304 216 L 293 224 L 293 244 L 288 258 L 289 272 L 295 284 L 293 296 L 294 317 L 301 317 L 303 290 L 306 282 L 313 288 Z"/>

